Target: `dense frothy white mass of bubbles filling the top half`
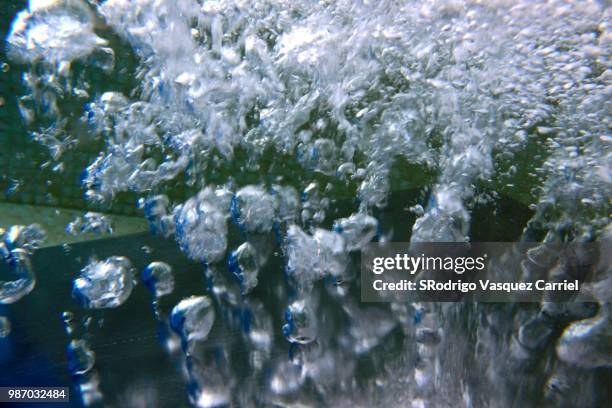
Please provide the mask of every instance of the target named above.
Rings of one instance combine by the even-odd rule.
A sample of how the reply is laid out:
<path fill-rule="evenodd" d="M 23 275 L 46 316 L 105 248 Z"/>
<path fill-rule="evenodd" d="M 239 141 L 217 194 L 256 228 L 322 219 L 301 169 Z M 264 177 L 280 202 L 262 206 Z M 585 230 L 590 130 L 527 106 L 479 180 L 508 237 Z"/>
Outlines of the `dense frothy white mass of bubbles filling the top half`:
<path fill-rule="evenodd" d="M 538 214 L 555 212 L 550 199 L 577 197 L 562 212 L 589 213 L 581 225 L 601 219 L 609 40 L 596 4 L 43 3 L 14 22 L 15 59 L 43 60 L 59 75 L 104 48 L 93 34 L 97 13 L 142 60 L 137 99 L 107 92 L 88 104 L 84 120 L 106 143 L 84 178 L 93 200 L 197 179 L 210 165 L 202 157 L 232 160 L 239 147 L 257 168 L 272 146 L 315 174 L 350 179 L 367 209 L 385 204 L 389 169 L 402 157 L 439 174 L 415 239 L 468 239 L 474 183 L 512 190 L 517 169 L 503 163 L 535 139 L 551 153 L 526 169 L 527 188 L 548 178 Z M 544 14 L 558 18 L 540 21 Z M 85 39 L 73 35 L 77 23 Z M 50 32 L 37 40 L 39 31 Z M 491 180 L 496 166 L 503 172 Z"/>

